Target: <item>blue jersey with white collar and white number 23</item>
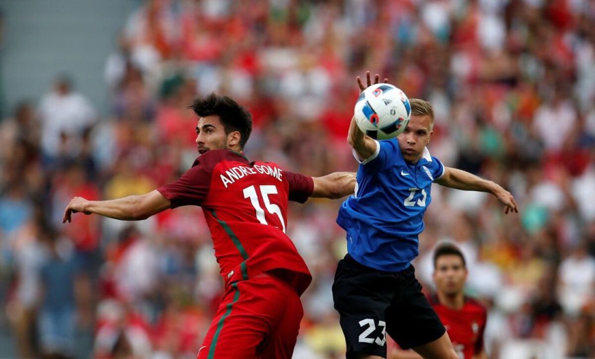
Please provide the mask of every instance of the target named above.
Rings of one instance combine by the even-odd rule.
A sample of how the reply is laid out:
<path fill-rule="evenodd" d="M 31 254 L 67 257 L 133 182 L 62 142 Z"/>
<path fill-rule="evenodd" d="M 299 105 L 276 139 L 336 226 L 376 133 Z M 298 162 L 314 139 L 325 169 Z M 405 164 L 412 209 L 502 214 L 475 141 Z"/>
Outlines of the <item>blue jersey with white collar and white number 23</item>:
<path fill-rule="evenodd" d="M 396 138 L 377 142 L 374 155 L 360 162 L 355 196 L 337 216 L 353 259 L 387 272 L 409 267 L 419 254 L 432 182 L 443 174 L 444 165 L 427 148 L 414 164 L 403 159 Z"/>

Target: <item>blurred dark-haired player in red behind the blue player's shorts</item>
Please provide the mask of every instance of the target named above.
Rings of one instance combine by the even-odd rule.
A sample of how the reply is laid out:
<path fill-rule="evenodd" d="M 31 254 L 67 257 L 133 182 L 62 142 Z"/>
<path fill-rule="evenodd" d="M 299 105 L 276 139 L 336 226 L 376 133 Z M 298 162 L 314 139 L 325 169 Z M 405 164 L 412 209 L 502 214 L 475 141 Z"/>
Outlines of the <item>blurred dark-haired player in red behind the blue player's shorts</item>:
<path fill-rule="evenodd" d="M 487 311 L 477 300 L 464 294 L 467 268 L 465 257 L 456 245 L 443 243 L 434 250 L 436 294 L 429 298 L 461 359 L 487 358 L 484 329 Z M 396 345 L 396 344 L 395 344 Z M 393 348 L 392 359 L 420 358 L 412 351 Z"/>

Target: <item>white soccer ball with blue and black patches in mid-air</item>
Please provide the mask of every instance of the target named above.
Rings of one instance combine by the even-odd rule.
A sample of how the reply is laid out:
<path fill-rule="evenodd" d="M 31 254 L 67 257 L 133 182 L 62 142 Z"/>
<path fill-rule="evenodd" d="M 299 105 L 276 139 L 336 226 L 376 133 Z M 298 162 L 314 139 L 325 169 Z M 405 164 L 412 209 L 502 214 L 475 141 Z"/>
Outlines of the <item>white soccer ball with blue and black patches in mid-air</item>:
<path fill-rule="evenodd" d="M 355 122 L 359 129 L 378 140 L 399 136 L 407 127 L 410 116 L 407 95 L 387 83 L 368 87 L 355 103 Z"/>

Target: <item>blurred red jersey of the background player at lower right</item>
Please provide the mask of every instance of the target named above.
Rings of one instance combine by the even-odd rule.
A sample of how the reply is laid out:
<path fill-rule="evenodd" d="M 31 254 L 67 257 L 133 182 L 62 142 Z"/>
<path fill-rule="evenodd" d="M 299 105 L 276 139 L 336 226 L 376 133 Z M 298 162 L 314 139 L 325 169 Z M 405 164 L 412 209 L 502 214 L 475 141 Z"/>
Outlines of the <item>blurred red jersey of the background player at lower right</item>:
<path fill-rule="evenodd" d="M 483 334 L 486 329 L 487 310 L 473 298 L 465 297 L 460 310 L 454 310 L 439 303 L 436 295 L 430 298 L 459 358 L 469 359 L 483 348 Z"/>

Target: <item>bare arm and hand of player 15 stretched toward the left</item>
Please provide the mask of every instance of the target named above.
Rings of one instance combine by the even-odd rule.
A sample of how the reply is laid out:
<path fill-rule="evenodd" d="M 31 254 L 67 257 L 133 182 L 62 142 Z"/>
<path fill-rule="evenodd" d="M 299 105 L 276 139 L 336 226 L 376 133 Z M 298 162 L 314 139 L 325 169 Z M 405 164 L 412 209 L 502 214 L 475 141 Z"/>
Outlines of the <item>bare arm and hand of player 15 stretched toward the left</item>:
<path fill-rule="evenodd" d="M 89 201 L 82 197 L 74 197 L 64 211 L 62 223 L 70 222 L 72 213 L 77 212 L 85 215 L 96 213 L 124 221 L 139 221 L 168 208 L 170 208 L 170 200 L 166 199 L 158 190 L 141 196 L 128 196 L 107 201 Z"/>

